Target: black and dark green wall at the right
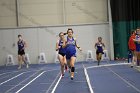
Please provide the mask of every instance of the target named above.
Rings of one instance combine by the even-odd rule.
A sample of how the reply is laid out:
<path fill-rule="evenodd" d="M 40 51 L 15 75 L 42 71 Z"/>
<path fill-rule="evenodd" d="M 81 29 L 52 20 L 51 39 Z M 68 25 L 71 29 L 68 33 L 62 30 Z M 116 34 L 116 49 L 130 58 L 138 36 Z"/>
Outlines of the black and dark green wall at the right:
<path fill-rule="evenodd" d="M 110 0 L 115 57 L 127 58 L 130 32 L 140 27 L 140 0 Z"/>

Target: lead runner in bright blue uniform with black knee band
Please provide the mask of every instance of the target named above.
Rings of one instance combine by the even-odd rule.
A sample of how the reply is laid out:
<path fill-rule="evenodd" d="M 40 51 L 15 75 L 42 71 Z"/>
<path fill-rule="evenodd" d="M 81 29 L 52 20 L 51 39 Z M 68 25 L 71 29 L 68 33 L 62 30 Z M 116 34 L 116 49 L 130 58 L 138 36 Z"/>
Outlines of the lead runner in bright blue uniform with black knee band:
<path fill-rule="evenodd" d="M 73 80 L 74 78 L 74 71 L 75 71 L 75 67 L 74 67 L 74 63 L 76 60 L 76 47 L 82 51 L 82 49 L 77 45 L 76 43 L 76 39 L 73 37 L 73 30 L 72 28 L 69 28 L 67 30 L 67 40 L 66 40 L 66 59 L 67 59 L 67 63 L 69 68 L 71 69 L 70 71 L 70 75 L 71 75 L 71 80 Z"/>

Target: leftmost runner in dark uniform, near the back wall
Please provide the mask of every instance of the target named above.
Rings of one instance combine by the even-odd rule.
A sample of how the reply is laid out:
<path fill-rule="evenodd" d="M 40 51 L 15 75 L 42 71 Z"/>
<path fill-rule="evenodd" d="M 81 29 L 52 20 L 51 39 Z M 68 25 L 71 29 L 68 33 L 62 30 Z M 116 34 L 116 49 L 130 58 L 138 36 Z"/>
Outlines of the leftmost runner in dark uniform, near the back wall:
<path fill-rule="evenodd" d="M 28 63 L 25 62 L 25 48 L 26 48 L 26 42 L 22 39 L 22 35 L 18 35 L 18 62 L 19 67 L 18 69 L 21 69 L 23 62 L 26 64 L 26 68 L 29 67 Z"/>

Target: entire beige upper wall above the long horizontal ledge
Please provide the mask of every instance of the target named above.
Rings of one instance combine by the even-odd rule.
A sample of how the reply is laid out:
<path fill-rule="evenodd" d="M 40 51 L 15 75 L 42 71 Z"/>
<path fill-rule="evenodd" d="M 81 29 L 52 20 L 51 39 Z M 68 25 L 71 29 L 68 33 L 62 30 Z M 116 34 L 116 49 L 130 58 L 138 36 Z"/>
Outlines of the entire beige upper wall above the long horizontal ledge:
<path fill-rule="evenodd" d="M 0 0 L 0 28 L 107 21 L 107 0 Z"/>

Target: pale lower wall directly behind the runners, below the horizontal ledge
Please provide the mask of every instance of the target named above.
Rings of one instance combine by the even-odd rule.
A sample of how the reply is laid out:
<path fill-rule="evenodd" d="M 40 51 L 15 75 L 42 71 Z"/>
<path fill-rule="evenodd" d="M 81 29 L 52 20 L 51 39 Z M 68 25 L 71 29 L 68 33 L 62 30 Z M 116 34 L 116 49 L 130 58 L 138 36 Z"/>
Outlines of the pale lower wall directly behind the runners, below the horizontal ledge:
<path fill-rule="evenodd" d="M 18 29 L 0 29 L 0 65 L 5 64 L 7 54 L 13 54 L 17 63 L 17 36 L 22 34 L 27 42 L 26 53 L 29 53 L 31 63 L 38 62 L 38 55 L 44 52 L 48 63 L 54 62 L 55 44 L 59 32 L 66 32 L 68 28 L 73 28 L 74 36 L 78 44 L 83 49 L 84 55 L 77 53 L 77 61 L 85 60 L 87 50 L 95 52 L 94 44 L 97 37 L 101 36 L 110 54 L 110 32 L 109 24 L 81 25 L 81 26 L 58 26 L 58 27 L 40 27 L 40 28 L 18 28 Z M 113 42 L 113 41 L 112 41 Z M 95 53 L 94 53 L 95 58 Z"/>

